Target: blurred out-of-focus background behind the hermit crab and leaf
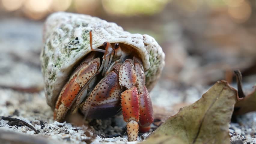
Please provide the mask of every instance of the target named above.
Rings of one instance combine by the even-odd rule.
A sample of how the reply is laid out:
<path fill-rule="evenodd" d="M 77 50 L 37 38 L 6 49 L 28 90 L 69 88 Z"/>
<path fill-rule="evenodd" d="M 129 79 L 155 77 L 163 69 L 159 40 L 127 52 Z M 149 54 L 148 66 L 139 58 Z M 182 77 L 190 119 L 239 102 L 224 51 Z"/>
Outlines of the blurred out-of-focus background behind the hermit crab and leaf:
<path fill-rule="evenodd" d="M 1 88 L 43 89 L 43 22 L 56 11 L 97 16 L 153 36 L 166 54 L 151 92 L 154 104 L 195 101 L 217 80 L 234 82 L 236 69 L 245 83 L 256 82 L 255 0 L 0 0 Z"/>

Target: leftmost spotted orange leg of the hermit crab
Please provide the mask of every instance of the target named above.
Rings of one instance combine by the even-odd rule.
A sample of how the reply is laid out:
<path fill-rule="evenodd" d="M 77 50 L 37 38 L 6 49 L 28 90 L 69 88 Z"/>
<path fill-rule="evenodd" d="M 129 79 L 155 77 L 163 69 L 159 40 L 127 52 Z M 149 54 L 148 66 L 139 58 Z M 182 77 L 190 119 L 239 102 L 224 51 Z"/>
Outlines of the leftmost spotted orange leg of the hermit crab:
<path fill-rule="evenodd" d="M 89 84 L 88 82 L 98 73 L 100 58 L 93 59 L 91 55 L 81 63 L 62 88 L 53 114 L 53 119 L 56 121 L 63 121 L 72 104 L 77 99 L 79 91 L 86 87 Z"/>

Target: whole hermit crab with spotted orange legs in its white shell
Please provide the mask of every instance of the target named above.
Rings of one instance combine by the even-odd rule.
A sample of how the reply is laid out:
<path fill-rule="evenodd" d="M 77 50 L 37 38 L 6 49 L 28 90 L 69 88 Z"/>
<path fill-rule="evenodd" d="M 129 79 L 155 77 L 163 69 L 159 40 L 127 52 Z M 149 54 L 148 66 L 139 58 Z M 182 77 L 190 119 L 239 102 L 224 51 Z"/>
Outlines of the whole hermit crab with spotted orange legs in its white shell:
<path fill-rule="evenodd" d="M 41 67 L 54 119 L 76 111 L 97 119 L 122 112 L 128 140 L 135 141 L 153 122 L 148 91 L 164 57 L 149 35 L 130 34 L 97 17 L 53 13 L 44 24 Z"/>

